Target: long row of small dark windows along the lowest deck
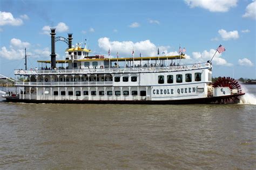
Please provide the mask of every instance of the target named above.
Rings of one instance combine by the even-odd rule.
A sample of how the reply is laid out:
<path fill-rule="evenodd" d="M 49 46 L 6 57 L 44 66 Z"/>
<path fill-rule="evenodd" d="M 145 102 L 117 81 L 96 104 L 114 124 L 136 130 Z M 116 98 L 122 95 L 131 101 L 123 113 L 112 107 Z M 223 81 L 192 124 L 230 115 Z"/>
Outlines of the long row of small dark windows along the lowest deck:
<path fill-rule="evenodd" d="M 58 91 L 53 91 L 53 95 L 58 96 Z M 88 96 L 89 95 L 89 91 L 83 91 L 84 96 Z M 113 91 L 106 91 L 107 96 L 112 96 L 113 95 Z M 137 90 L 133 90 L 131 91 L 132 96 L 137 96 L 138 95 L 138 91 Z M 60 95 L 65 96 L 66 95 L 66 91 L 60 91 Z M 72 96 L 73 95 L 73 91 L 68 91 L 68 95 Z M 96 96 L 97 95 L 97 91 L 91 91 L 91 95 L 92 96 Z M 105 91 L 99 91 L 99 96 L 104 96 L 105 95 Z M 120 96 L 121 95 L 121 91 L 114 91 L 114 95 L 115 96 Z M 124 96 L 129 96 L 129 91 L 123 91 L 123 95 Z M 81 91 L 76 91 L 76 96 L 81 96 Z M 140 91 L 140 96 L 146 96 L 146 91 L 142 90 Z"/>

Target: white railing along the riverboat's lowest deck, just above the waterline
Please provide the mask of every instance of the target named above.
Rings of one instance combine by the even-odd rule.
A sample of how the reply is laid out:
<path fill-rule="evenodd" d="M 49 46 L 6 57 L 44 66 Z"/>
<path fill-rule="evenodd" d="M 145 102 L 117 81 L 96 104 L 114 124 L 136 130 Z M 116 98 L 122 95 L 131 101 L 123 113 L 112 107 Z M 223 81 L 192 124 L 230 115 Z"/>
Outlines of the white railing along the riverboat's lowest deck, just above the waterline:
<path fill-rule="evenodd" d="M 18 94 L 17 98 L 26 100 L 92 100 L 92 101 L 134 101 L 151 100 L 151 96 L 50 96 L 50 95 L 26 95 Z"/>

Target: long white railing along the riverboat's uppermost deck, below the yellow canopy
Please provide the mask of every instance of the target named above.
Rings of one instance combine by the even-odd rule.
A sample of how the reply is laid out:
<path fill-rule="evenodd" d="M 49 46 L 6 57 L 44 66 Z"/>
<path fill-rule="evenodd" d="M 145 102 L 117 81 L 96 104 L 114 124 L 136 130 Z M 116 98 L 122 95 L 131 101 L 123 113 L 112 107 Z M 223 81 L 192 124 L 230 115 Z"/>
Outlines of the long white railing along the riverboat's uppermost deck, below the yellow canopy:
<path fill-rule="evenodd" d="M 211 68 L 211 64 L 197 63 L 193 65 L 167 66 L 167 67 L 127 67 L 127 68 L 88 68 L 88 69 L 63 69 L 63 70 L 15 70 L 20 75 L 48 75 L 48 74 L 93 74 L 93 73 L 146 73 L 170 72 L 180 70 L 193 70 Z"/>

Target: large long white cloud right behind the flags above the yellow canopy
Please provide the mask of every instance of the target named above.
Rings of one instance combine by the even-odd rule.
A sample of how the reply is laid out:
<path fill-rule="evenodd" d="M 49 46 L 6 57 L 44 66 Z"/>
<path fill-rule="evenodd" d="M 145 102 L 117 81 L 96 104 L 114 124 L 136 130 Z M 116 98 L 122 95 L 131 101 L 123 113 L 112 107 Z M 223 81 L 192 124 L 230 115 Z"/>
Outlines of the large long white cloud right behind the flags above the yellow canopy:
<path fill-rule="evenodd" d="M 103 49 L 106 53 L 109 51 L 111 55 L 116 55 L 119 53 L 119 56 L 131 57 L 132 49 L 134 49 L 134 56 L 139 56 L 139 53 L 142 53 L 143 56 L 157 56 L 158 47 L 154 45 L 150 40 L 144 40 L 139 42 L 132 41 L 110 41 L 109 38 L 99 38 L 98 39 L 99 48 Z M 160 53 L 165 51 L 165 55 L 178 55 L 178 52 L 167 52 L 169 46 L 159 46 Z"/>

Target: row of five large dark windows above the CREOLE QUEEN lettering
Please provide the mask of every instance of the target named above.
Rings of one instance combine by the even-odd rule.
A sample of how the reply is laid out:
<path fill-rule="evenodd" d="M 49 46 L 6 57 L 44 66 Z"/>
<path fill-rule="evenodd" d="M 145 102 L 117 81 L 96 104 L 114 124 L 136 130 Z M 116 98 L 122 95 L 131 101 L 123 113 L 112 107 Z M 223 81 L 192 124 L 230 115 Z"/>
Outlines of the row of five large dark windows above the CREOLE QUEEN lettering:
<path fill-rule="evenodd" d="M 165 76 L 164 75 L 159 75 L 158 76 L 158 83 L 159 84 L 164 84 Z M 194 81 L 201 81 L 201 73 L 194 73 Z M 173 83 L 173 75 L 167 75 L 167 83 Z M 176 83 L 182 83 L 183 82 L 183 75 L 182 74 L 177 74 L 176 75 Z M 192 74 L 188 73 L 185 74 L 185 82 L 192 82 Z"/>

